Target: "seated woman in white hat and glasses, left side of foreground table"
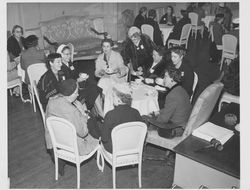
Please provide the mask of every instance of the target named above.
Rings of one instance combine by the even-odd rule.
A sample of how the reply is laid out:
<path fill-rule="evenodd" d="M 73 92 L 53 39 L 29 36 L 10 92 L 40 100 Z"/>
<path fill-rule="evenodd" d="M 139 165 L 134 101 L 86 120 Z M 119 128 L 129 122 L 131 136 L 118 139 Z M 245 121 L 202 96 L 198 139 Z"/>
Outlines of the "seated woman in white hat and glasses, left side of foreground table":
<path fill-rule="evenodd" d="M 98 112 L 98 115 L 103 117 L 104 115 L 102 110 L 101 99 L 102 89 L 96 85 L 95 81 L 89 79 L 88 75 L 86 75 L 87 77 L 79 76 L 72 63 L 72 52 L 69 46 L 66 46 L 64 44 L 60 45 L 57 49 L 57 53 L 61 54 L 62 56 L 62 67 L 60 72 L 64 73 L 69 78 L 76 79 L 79 83 L 79 98 L 82 98 L 81 102 L 85 101 L 89 110 L 94 107 Z"/>

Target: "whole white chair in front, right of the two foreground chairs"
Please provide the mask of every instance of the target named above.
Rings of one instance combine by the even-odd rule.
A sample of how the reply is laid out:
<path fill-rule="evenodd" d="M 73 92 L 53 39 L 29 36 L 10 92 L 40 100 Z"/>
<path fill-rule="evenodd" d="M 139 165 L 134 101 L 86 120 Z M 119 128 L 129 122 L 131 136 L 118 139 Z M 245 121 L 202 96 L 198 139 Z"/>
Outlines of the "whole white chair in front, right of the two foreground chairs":
<path fill-rule="evenodd" d="M 102 163 L 104 159 L 112 166 L 113 188 L 116 188 L 116 168 L 138 164 L 139 188 L 141 188 L 142 150 L 147 133 L 143 122 L 128 122 L 116 126 L 111 132 L 113 153 L 102 146 Z M 104 164 L 102 171 L 104 169 Z"/>

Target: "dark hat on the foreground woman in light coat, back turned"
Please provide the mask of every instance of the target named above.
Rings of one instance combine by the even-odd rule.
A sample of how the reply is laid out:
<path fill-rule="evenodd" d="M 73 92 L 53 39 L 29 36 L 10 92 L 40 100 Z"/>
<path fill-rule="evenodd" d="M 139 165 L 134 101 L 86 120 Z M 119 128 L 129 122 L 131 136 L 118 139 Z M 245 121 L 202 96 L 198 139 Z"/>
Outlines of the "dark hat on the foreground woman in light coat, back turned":
<path fill-rule="evenodd" d="M 67 79 L 63 80 L 58 84 L 58 91 L 64 96 L 72 95 L 77 88 L 76 80 Z"/>

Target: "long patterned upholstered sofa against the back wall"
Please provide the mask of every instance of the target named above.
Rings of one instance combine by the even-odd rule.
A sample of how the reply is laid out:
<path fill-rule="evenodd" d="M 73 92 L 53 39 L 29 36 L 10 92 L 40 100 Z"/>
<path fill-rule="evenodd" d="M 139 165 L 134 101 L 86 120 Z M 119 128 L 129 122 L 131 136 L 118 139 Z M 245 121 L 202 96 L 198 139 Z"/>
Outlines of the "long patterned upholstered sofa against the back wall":
<path fill-rule="evenodd" d="M 102 18 L 90 18 L 88 16 L 62 16 L 49 21 L 40 22 L 42 36 L 47 37 L 51 42 L 60 44 L 72 43 L 75 52 L 85 51 L 88 49 L 99 48 L 103 36 L 95 34 L 91 28 L 103 28 L 95 26 L 102 24 Z M 103 32 L 103 31 L 99 31 Z M 44 41 L 45 49 L 51 49 Z"/>

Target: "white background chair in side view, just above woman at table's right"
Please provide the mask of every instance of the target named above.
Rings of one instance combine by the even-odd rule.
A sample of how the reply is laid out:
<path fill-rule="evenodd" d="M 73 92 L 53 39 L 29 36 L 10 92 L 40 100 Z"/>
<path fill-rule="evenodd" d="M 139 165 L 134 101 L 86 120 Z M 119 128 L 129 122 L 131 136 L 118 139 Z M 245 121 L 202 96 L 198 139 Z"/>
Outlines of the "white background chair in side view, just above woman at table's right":
<path fill-rule="evenodd" d="M 185 47 L 187 49 L 188 38 L 189 38 L 191 28 L 192 28 L 191 24 L 185 24 L 181 30 L 181 37 L 179 40 L 175 40 L 175 39 L 168 40 L 168 48 L 170 48 L 170 44 L 175 44 L 178 46 L 185 45 Z"/>

